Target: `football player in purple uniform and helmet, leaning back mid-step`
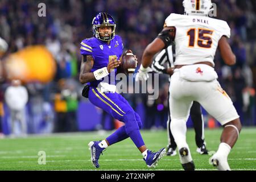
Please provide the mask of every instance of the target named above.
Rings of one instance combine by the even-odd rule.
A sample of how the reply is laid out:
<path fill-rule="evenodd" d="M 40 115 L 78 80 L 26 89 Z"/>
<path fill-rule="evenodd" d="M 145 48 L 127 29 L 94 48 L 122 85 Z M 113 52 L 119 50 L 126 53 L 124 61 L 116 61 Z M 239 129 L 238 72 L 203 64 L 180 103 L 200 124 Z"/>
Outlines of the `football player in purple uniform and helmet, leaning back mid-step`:
<path fill-rule="evenodd" d="M 98 13 L 92 21 L 93 37 L 81 42 L 80 52 L 82 63 L 80 70 L 81 84 L 87 83 L 82 95 L 89 98 L 93 105 L 112 115 L 113 118 L 125 123 L 108 138 L 89 142 L 93 166 L 98 168 L 100 154 L 108 146 L 131 138 L 143 155 L 148 167 L 155 167 L 164 155 L 166 148 L 158 152 L 147 149 L 139 129 L 142 127 L 141 118 L 129 103 L 115 92 L 115 75 L 123 53 L 120 36 L 115 35 L 114 18 L 107 13 Z"/>

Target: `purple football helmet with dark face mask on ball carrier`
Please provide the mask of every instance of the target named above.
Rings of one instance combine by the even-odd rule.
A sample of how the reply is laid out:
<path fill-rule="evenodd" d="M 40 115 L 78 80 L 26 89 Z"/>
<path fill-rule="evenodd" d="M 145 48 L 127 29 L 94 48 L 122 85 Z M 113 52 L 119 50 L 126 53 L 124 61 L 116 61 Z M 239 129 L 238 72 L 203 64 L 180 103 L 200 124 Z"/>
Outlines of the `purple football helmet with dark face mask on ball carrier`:
<path fill-rule="evenodd" d="M 110 26 L 112 28 L 112 34 L 110 36 L 100 36 L 98 27 Z M 109 41 L 115 37 L 115 20 L 112 15 L 108 13 L 98 13 L 92 21 L 93 36 L 103 41 Z"/>

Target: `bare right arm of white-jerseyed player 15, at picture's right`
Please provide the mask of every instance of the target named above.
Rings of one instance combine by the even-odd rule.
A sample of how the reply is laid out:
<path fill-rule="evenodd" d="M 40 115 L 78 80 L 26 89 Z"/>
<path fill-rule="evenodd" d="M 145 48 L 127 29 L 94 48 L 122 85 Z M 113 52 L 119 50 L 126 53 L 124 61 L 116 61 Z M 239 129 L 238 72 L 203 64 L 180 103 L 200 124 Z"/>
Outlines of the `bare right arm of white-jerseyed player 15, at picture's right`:
<path fill-rule="evenodd" d="M 218 41 L 218 48 L 220 49 L 221 57 L 222 59 L 224 59 L 225 64 L 236 64 L 236 56 L 232 52 L 226 36 L 222 36 L 222 38 Z"/>

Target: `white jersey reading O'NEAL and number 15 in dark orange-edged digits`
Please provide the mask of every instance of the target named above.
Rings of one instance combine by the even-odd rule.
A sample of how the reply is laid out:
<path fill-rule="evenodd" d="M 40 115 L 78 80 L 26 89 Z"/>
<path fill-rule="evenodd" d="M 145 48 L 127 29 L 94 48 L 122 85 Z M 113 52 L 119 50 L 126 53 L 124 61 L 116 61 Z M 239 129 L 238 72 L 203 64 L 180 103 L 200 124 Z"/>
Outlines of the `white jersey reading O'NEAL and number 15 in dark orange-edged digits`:
<path fill-rule="evenodd" d="M 175 65 L 195 64 L 213 59 L 222 36 L 230 38 L 230 28 L 223 20 L 207 16 L 170 14 L 164 27 L 176 27 Z"/>

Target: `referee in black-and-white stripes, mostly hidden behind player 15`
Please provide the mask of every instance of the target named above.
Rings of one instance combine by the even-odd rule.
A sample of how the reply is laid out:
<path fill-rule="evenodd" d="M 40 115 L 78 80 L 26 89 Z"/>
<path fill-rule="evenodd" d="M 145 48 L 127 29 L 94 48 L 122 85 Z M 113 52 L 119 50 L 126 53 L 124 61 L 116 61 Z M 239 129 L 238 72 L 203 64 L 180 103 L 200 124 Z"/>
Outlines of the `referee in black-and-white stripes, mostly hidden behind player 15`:
<path fill-rule="evenodd" d="M 153 60 L 152 63 L 152 70 L 156 73 L 162 73 L 171 75 L 174 71 L 174 61 L 175 61 L 175 45 L 172 43 L 170 46 L 168 46 L 166 49 L 163 49 L 161 52 L 159 52 Z M 170 79 L 169 78 L 169 82 Z M 168 105 L 170 105 L 170 89 L 168 92 Z M 193 122 L 193 126 L 195 128 L 196 132 L 196 145 L 197 145 L 197 152 L 200 154 L 208 154 L 208 150 L 205 146 L 205 140 L 204 140 L 204 120 L 203 120 L 203 114 L 201 112 L 201 106 L 198 102 L 194 101 L 193 105 L 190 110 L 191 119 Z M 167 145 L 167 155 L 174 156 L 176 155 L 176 143 L 174 141 L 174 137 L 171 133 L 171 119 L 170 119 L 170 109 L 168 114 L 168 121 L 167 121 L 167 133 L 168 133 L 168 145 Z"/>

